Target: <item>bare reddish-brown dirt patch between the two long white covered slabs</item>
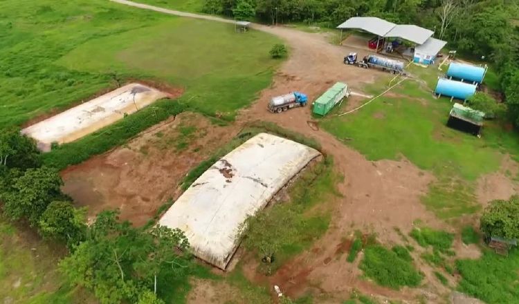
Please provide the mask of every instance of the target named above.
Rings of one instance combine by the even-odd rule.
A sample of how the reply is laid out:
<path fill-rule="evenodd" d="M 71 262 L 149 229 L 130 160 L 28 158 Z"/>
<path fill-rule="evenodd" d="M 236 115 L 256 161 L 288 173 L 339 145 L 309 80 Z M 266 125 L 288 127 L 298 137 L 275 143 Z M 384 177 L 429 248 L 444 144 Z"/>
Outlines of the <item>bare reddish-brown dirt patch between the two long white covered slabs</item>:
<path fill-rule="evenodd" d="M 180 131 L 183 126 L 196 131 L 186 138 Z M 125 146 L 65 169 L 63 191 L 76 204 L 89 207 L 89 217 L 119 208 L 121 218 L 143 225 L 158 207 L 179 195 L 183 176 L 236 131 L 233 126 L 212 125 L 201 115 L 182 113 Z M 186 142 L 185 149 L 178 149 L 180 141 Z"/>

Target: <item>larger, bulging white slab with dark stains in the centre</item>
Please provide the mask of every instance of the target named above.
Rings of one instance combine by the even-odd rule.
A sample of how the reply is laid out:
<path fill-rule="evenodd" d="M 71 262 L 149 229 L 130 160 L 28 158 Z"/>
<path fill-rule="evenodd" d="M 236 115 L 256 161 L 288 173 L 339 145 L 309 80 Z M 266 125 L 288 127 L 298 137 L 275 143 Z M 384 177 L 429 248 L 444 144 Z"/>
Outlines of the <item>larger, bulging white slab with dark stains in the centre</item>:
<path fill-rule="evenodd" d="M 246 218 L 318 155 L 303 144 L 260 133 L 204 172 L 159 224 L 183 230 L 195 256 L 226 269 Z"/>

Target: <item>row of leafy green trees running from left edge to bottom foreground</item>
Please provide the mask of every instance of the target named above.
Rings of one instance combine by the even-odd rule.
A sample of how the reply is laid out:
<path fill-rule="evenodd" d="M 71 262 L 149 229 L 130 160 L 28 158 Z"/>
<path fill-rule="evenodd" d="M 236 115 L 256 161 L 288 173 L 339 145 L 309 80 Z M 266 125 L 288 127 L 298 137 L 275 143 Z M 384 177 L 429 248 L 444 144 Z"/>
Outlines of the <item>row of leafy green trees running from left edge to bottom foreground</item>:
<path fill-rule="evenodd" d="M 192 270 L 183 232 L 136 228 L 120 220 L 117 210 L 102 211 L 87 225 L 86 209 L 74 207 L 61 191 L 59 172 L 43 166 L 40 156 L 35 141 L 19 129 L 0 135 L 3 218 L 66 245 L 69 256 L 60 262 L 64 277 L 91 289 L 100 303 L 164 303 L 165 288 L 172 288 L 165 281 L 185 278 Z"/>

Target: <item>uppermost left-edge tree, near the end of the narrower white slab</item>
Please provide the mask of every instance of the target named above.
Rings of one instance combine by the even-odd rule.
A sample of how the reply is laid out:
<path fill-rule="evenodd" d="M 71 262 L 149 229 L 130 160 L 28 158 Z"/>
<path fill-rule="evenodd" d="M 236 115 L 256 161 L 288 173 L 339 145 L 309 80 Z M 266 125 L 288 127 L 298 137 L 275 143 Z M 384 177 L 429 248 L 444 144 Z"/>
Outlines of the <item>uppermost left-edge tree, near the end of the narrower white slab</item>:
<path fill-rule="evenodd" d="M 8 168 L 28 169 L 39 167 L 39 150 L 36 142 L 19 129 L 0 133 L 0 165 Z"/>

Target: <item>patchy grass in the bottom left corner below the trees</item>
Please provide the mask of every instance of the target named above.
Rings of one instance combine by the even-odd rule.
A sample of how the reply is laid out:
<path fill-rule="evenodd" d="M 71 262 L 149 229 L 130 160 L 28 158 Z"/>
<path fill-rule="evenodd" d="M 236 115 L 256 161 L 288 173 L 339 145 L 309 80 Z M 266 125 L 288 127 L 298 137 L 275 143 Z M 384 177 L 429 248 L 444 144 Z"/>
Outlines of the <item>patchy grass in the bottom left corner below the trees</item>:
<path fill-rule="evenodd" d="M 0 218 L 0 299 L 12 303 L 94 303 L 83 289 L 66 285 L 56 265 L 64 255 L 30 231 Z M 17 286 L 19 281 L 19 286 Z"/>

